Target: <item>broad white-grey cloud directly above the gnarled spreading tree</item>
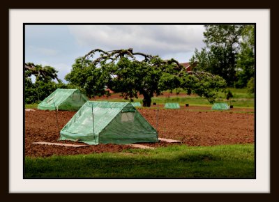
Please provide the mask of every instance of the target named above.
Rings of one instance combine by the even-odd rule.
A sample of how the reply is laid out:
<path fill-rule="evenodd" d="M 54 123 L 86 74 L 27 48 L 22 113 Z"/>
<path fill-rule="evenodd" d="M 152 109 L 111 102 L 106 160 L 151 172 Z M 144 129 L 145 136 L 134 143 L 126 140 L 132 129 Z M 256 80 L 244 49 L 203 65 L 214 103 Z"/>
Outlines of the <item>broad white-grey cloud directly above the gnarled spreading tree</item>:
<path fill-rule="evenodd" d="M 204 47 L 202 25 L 68 26 L 77 44 L 91 49 L 125 49 L 160 55 L 194 52 Z"/>

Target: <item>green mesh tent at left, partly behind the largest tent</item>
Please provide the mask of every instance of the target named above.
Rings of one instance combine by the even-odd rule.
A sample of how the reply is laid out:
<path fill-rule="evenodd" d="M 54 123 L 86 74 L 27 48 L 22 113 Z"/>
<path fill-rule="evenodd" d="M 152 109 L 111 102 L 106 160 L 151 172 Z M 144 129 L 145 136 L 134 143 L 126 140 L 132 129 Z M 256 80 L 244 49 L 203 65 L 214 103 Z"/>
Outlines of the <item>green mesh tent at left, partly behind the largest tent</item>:
<path fill-rule="evenodd" d="M 38 109 L 77 111 L 87 100 L 78 89 L 58 88 L 38 104 Z"/>

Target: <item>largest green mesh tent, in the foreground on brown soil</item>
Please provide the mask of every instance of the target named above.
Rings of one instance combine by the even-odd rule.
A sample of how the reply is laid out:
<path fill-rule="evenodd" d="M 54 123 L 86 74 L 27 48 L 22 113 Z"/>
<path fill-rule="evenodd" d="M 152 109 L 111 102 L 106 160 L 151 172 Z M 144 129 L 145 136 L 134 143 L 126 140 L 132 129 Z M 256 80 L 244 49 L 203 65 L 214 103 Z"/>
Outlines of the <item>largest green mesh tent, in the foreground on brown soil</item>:
<path fill-rule="evenodd" d="M 129 102 L 86 102 L 60 132 L 88 144 L 158 142 L 158 133 Z"/>

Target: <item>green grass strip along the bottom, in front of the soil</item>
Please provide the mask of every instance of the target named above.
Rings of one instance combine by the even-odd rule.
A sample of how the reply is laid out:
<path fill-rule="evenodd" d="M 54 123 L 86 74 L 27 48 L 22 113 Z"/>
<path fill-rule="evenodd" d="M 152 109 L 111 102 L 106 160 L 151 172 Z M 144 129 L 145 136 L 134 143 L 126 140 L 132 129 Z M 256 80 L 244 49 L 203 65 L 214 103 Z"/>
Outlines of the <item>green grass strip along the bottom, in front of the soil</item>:
<path fill-rule="evenodd" d="M 254 144 L 25 157 L 25 178 L 255 178 Z"/>

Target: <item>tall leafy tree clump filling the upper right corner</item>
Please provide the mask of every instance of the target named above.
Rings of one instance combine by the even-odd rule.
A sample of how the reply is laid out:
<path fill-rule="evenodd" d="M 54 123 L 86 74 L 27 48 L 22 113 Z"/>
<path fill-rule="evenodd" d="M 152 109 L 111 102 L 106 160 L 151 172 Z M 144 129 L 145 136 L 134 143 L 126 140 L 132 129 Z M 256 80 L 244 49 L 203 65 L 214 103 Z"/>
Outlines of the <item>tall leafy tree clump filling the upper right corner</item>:
<path fill-rule="evenodd" d="M 245 87 L 254 74 L 254 40 L 253 25 L 205 25 L 206 47 L 196 49 L 190 63 L 223 77 L 228 86 Z"/>

